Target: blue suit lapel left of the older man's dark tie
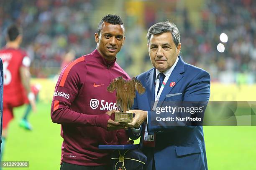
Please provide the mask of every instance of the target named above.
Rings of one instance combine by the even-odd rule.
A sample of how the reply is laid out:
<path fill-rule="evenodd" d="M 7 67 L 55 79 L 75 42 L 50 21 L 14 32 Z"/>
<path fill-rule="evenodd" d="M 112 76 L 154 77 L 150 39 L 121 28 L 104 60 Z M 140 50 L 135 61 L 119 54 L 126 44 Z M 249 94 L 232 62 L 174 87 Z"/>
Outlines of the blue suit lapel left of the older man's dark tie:
<path fill-rule="evenodd" d="M 146 92 L 148 95 L 148 103 L 150 108 L 152 107 L 151 102 L 155 101 L 155 75 L 156 75 L 156 69 L 152 69 L 148 76 L 146 77 Z"/>

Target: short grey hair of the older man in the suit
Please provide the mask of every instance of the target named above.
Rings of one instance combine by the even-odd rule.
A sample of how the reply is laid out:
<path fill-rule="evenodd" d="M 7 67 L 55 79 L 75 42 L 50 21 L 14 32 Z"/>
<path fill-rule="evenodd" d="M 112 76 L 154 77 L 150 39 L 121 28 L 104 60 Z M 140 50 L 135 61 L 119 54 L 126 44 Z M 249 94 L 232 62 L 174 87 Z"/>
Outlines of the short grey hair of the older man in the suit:
<path fill-rule="evenodd" d="M 149 44 L 149 40 L 151 38 L 151 35 L 162 34 L 162 33 L 165 33 L 165 32 L 171 32 L 172 33 L 172 39 L 174 41 L 174 44 L 177 47 L 180 43 L 179 30 L 178 30 L 177 26 L 174 23 L 170 23 L 169 21 L 166 21 L 164 23 L 156 23 L 148 29 L 148 33 L 147 33 L 148 44 Z"/>

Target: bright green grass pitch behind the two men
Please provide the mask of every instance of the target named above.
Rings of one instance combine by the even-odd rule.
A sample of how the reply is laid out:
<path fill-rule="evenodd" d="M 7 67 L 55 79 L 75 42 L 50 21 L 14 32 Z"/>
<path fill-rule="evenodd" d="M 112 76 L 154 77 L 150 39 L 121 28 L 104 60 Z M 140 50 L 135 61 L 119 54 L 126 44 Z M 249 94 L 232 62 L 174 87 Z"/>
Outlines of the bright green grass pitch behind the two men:
<path fill-rule="evenodd" d="M 38 112 L 29 118 L 31 132 L 18 125 L 25 107 L 15 109 L 3 161 L 29 161 L 29 168 L 19 170 L 59 170 L 62 138 L 60 125 L 51 122 L 50 106 L 38 103 Z M 209 170 L 256 169 L 256 126 L 205 126 L 204 134 Z M 12 169 L 17 168 L 3 168 Z"/>

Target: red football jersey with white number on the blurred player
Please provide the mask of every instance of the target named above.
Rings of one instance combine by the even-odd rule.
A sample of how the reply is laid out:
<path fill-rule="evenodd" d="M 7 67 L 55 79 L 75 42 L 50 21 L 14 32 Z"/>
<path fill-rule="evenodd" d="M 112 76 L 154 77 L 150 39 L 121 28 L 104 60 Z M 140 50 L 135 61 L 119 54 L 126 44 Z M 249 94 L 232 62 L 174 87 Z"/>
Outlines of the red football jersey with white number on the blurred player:
<path fill-rule="evenodd" d="M 12 107 L 23 105 L 26 91 L 21 82 L 20 67 L 29 67 L 30 58 L 20 48 L 3 48 L 0 58 L 4 69 L 3 104 Z"/>

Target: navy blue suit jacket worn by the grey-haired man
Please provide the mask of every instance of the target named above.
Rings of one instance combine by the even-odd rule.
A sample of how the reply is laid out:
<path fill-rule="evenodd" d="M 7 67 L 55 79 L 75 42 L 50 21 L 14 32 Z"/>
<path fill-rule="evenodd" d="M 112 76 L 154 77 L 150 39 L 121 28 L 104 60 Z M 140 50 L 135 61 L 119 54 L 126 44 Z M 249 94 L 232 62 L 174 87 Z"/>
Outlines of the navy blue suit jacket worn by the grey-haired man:
<path fill-rule="evenodd" d="M 148 111 L 148 133 L 156 134 L 154 148 L 141 147 L 148 157 L 146 170 L 152 170 L 155 161 L 156 170 L 207 170 L 205 142 L 202 126 L 164 126 L 152 125 L 152 102 L 155 100 L 155 68 L 137 76 L 146 92 L 136 93 L 133 109 Z M 170 87 L 171 82 L 176 85 Z M 168 97 L 168 94 L 177 94 Z M 167 97 L 166 97 L 167 95 Z M 170 75 L 159 101 L 208 101 L 210 97 L 210 75 L 193 65 L 185 63 L 179 56 L 179 61 Z M 161 102 L 159 102 L 161 106 Z M 141 127 L 144 134 L 145 123 Z M 130 135 L 132 139 L 138 136 Z M 142 138 L 141 138 L 142 145 Z"/>

